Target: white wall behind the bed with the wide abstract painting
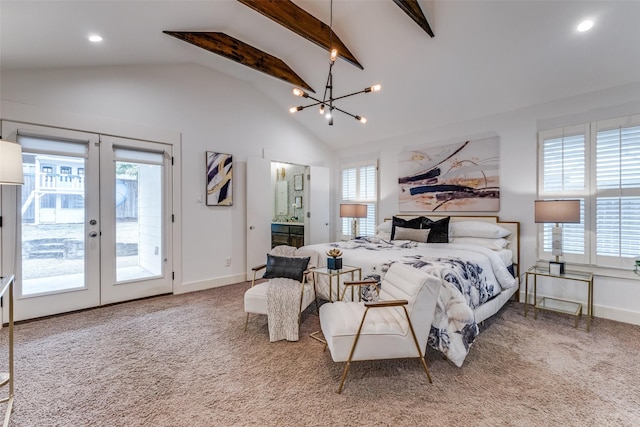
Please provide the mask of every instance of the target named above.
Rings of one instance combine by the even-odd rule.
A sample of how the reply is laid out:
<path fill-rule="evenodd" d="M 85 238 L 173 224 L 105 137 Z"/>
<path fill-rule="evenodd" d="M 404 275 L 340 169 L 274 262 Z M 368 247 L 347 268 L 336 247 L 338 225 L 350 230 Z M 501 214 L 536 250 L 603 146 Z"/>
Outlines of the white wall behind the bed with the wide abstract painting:
<path fill-rule="evenodd" d="M 523 273 L 537 260 L 537 225 L 533 220 L 537 131 L 639 112 L 640 82 L 342 149 L 336 153 L 336 166 L 352 159 L 379 158 L 381 200 L 378 215 L 381 219 L 388 218 L 398 212 L 398 154 L 403 147 L 439 146 L 497 134 L 500 137 L 501 187 L 500 211 L 497 214 L 505 221 L 520 222 L 520 272 Z M 339 168 L 335 169 L 338 171 Z M 337 199 L 336 203 L 339 203 Z M 334 223 L 336 220 L 334 215 Z M 624 275 L 627 278 L 596 276 L 594 312 L 599 317 L 640 324 L 640 277 L 628 272 Z M 566 282 L 544 282 L 539 284 L 538 292 L 542 295 L 586 301 L 585 286 L 567 286 Z"/>

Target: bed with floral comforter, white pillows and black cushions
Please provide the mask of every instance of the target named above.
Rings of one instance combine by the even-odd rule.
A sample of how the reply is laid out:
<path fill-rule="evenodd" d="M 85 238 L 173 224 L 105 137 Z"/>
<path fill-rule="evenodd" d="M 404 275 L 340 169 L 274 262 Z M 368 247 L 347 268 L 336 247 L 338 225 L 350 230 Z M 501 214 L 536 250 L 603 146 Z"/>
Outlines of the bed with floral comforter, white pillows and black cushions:
<path fill-rule="evenodd" d="M 307 245 L 300 251 L 313 254 L 318 267 L 325 267 L 326 253 L 337 248 L 345 266 L 362 269 L 363 280 L 380 281 L 395 262 L 440 277 L 429 345 L 462 366 L 479 333 L 478 324 L 517 296 L 519 223 L 495 216 L 396 215 L 377 231 L 375 236 Z M 316 277 L 318 296 L 329 300 L 327 276 Z M 339 295 L 348 300 L 351 295 L 341 283 L 344 277 L 339 280 Z M 363 288 L 356 296 L 376 297 L 375 287 Z"/>

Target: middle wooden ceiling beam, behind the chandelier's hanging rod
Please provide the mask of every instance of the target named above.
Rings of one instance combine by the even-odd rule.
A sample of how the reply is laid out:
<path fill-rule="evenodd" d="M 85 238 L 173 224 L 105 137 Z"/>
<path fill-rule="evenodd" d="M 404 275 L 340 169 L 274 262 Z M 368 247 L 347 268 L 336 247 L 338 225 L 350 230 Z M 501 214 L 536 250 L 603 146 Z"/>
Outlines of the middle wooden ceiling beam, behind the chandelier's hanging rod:
<path fill-rule="evenodd" d="M 363 70 L 360 62 L 342 43 L 340 38 L 328 25 L 296 6 L 291 0 L 238 0 L 264 16 L 272 19 L 301 37 L 331 52 L 329 39 L 333 39 L 333 48 L 338 49 L 338 56 Z M 428 24 L 427 24 L 428 25 Z M 331 34 L 331 36 L 330 36 Z"/>

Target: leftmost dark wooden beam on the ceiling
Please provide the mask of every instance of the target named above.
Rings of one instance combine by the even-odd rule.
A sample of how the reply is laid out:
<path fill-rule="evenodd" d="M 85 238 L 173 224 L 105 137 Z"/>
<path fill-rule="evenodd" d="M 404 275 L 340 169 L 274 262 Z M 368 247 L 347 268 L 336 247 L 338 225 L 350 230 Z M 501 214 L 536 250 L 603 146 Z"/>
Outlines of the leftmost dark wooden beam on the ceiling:
<path fill-rule="evenodd" d="M 163 33 L 315 93 L 311 86 L 283 60 L 225 33 L 194 31 L 163 31 Z"/>

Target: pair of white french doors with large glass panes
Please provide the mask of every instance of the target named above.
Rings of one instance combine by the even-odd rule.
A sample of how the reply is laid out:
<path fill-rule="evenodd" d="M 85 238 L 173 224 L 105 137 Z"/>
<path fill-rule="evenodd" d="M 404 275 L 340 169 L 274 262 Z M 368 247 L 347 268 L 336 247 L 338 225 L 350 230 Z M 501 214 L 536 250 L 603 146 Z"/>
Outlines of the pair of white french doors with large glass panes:
<path fill-rule="evenodd" d="M 2 135 L 25 176 L 2 199 L 16 320 L 171 292 L 170 145 L 11 122 Z"/>

